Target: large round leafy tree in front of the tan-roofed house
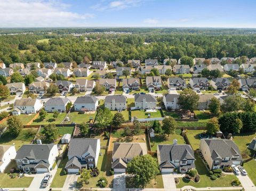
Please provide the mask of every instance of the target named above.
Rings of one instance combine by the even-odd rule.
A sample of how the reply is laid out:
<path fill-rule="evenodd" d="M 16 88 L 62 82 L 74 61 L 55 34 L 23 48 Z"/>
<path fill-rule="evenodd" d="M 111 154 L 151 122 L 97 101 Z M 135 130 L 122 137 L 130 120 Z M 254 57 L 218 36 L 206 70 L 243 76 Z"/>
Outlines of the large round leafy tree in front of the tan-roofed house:
<path fill-rule="evenodd" d="M 159 173 L 158 163 L 150 155 L 136 156 L 127 163 L 127 172 L 132 175 L 134 184 L 143 188 Z"/>

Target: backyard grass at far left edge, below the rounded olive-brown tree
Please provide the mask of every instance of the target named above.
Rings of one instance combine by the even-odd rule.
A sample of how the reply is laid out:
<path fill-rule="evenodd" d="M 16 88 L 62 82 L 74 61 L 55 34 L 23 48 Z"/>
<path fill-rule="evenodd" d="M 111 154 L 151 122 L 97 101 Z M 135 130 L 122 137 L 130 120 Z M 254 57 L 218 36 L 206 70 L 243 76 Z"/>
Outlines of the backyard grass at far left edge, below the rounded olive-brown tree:
<path fill-rule="evenodd" d="M 37 128 L 23 128 L 20 135 L 16 138 L 11 137 L 7 131 L 0 138 L 0 145 L 15 145 L 16 150 L 22 145 L 30 144 L 36 135 Z"/>

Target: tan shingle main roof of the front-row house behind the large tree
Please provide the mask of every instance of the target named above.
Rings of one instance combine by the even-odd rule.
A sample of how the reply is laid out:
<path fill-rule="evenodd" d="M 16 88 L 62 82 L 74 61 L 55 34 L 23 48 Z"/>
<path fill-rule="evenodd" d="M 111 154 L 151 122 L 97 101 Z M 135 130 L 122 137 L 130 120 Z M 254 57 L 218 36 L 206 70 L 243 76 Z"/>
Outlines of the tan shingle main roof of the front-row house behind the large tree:
<path fill-rule="evenodd" d="M 112 158 L 132 159 L 145 154 L 147 154 L 146 143 L 114 143 Z"/>

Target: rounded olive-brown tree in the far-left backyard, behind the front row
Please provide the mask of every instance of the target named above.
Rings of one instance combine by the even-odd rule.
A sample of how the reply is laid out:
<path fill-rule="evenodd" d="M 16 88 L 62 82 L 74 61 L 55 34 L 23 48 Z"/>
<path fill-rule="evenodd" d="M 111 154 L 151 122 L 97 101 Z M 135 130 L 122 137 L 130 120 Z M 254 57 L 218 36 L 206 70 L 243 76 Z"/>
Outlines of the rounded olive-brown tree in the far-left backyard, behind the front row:
<path fill-rule="evenodd" d="M 10 135 L 13 137 L 18 137 L 23 128 L 23 124 L 18 116 L 12 115 L 7 119 L 7 127 Z"/>

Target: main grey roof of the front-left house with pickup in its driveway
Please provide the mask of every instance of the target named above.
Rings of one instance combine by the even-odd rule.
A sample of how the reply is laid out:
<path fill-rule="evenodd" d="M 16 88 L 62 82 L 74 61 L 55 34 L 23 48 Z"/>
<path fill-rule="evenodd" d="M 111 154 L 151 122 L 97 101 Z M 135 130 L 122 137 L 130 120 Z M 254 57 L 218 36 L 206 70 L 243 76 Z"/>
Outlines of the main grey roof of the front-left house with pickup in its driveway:
<path fill-rule="evenodd" d="M 54 144 L 49 145 L 22 145 L 17 151 L 15 159 L 48 160 Z"/>

